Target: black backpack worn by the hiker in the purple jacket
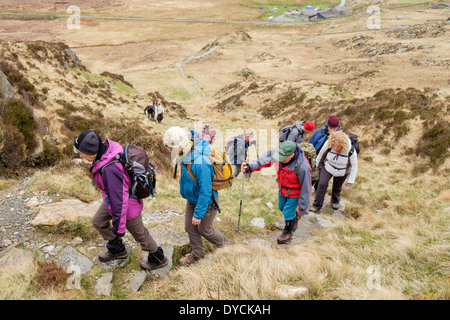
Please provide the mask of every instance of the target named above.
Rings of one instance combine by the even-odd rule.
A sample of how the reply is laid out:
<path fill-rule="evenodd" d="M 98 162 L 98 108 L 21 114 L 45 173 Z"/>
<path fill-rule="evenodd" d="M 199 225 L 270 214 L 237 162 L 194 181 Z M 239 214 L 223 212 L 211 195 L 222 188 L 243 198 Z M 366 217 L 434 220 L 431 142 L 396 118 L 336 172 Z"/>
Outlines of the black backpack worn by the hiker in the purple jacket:
<path fill-rule="evenodd" d="M 115 159 L 101 168 L 119 162 L 128 172 L 131 180 L 130 195 L 143 199 L 155 197 L 156 173 L 145 149 L 134 144 L 123 147 L 124 152 L 116 154 Z"/>

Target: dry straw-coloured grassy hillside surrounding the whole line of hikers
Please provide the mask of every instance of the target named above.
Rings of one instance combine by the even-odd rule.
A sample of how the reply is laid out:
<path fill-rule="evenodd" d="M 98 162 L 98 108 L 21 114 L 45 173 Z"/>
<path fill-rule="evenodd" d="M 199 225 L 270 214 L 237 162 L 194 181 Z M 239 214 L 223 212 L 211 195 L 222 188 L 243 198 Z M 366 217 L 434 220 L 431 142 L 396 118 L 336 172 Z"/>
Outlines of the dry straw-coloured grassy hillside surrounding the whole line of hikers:
<path fill-rule="evenodd" d="M 26 2 L 20 1 L 23 9 Z M 189 9 L 177 11 L 163 3 L 147 8 L 142 0 L 129 6 L 102 0 L 117 7 L 89 10 L 174 18 L 236 14 L 256 21 L 259 5 L 243 2 L 217 8 L 203 0 L 170 1 L 171 9 Z M 16 40 L 0 42 L 0 67 L 15 95 L 0 97 L 0 256 L 10 246 L 33 252 L 25 274 L 0 272 L 0 299 L 272 300 L 286 299 L 278 289 L 289 286 L 306 293 L 287 299 L 448 300 L 449 9 L 422 4 L 400 10 L 398 1 L 386 1 L 383 29 L 370 31 L 369 2 L 379 1 L 364 2 L 339 20 L 208 24 L 208 32 L 191 22 L 86 19 L 80 30 L 68 31 L 64 19 L 0 20 L 2 34 Z M 5 8 L 16 3 L 7 1 Z M 207 10 L 197 10 L 202 6 Z M 23 42 L 35 38 L 50 42 Z M 154 96 L 167 106 L 161 125 L 143 115 Z M 211 123 L 220 133 L 216 146 L 227 133 L 251 127 L 258 142 L 250 150 L 254 160 L 271 147 L 268 140 L 278 144 L 284 124 L 313 120 L 318 128 L 333 113 L 361 141 L 355 184 L 342 192 L 339 210 L 327 203 L 320 215 L 302 218 L 307 232 L 298 230 L 288 245 L 275 240 L 284 221 L 273 168 L 250 180 L 241 175 L 220 192 L 222 212 L 214 225 L 233 245 L 205 242 L 206 259 L 189 268 L 175 265 L 164 277 L 147 276 L 139 292 L 123 287 L 140 271 L 141 250 L 129 235 L 130 262 L 109 270 L 112 293 L 105 297 L 95 287 L 109 271 L 99 264 L 82 277 L 79 290 L 68 289 L 67 274 L 51 265 L 51 253 L 63 247 L 92 261 L 104 250 L 88 219 L 43 228 L 29 223 L 48 203 L 100 197 L 87 164 L 72 161 L 80 130 L 96 127 L 104 137 L 145 146 L 158 166 L 158 184 L 157 196 L 144 200 L 144 223 L 185 234 L 186 203 L 161 145 L 168 127 Z M 40 201 L 38 208 L 26 205 L 30 198 Z"/>

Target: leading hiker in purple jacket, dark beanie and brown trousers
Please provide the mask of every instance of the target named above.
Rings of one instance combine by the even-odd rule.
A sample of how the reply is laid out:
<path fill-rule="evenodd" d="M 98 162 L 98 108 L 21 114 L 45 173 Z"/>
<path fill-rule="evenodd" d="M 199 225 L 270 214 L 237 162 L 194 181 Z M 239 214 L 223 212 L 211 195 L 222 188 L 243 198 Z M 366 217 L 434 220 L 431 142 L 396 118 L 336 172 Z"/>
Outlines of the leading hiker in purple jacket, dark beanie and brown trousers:
<path fill-rule="evenodd" d="M 122 241 L 127 229 L 142 250 L 149 252 L 148 260 L 141 261 L 143 269 L 154 270 L 165 266 L 168 260 L 163 249 L 158 247 L 142 222 L 143 201 L 129 196 L 129 174 L 119 162 L 111 163 L 117 154 L 124 152 L 123 147 L 112 140 L 102 142 L 93 129 L 82 132 L 73 146 L 80 158 L 92 162 L 92 179 L 100 188 L 104 200 L 92 218 L 94 227 L 103 239 L 108 240 L 108 250 L 100 252 L 98 259 L 107 262 L 128 257 L 129 252 Z"/>

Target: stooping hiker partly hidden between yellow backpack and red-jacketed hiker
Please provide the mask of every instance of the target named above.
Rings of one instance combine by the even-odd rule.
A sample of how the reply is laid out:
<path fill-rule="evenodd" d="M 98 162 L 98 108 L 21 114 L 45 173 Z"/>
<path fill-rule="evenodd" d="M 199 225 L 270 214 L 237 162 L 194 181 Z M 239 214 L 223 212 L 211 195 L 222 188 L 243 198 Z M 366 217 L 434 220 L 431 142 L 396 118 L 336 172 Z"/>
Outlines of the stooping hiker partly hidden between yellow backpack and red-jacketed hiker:
<path fill-rule="evenodd" d="M 247 161 L 248 148 L 252 144 L 256 146 L 256 140 L 250 141 L 253 136 L 253 130 L 249 129 L 227 141 L 226 152 L 230 163 L 234 165 L 233 176 L 235 178 L 241 173 L 241 165 Z"/>

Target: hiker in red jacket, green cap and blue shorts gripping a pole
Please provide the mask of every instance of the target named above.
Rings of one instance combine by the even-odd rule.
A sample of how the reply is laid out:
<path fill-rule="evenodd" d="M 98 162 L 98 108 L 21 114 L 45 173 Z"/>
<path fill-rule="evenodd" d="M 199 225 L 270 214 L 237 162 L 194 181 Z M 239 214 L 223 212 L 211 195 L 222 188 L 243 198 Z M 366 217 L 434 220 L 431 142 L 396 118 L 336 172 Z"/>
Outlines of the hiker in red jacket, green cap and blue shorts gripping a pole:
<path fill-rule="evenodd" d="M 277 242 L 283 244 L 292 239 L 298 220 L 306 214 L 311 195 L 311 171 L 302 148 L 295 142 L 285 141 L 256 161 L 242 164 L 242 172 L 259 171 L 272 164 L 277 170 L 278 208 L 285 220 Z"/>

